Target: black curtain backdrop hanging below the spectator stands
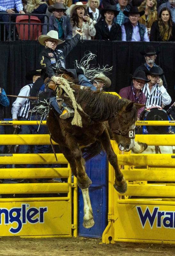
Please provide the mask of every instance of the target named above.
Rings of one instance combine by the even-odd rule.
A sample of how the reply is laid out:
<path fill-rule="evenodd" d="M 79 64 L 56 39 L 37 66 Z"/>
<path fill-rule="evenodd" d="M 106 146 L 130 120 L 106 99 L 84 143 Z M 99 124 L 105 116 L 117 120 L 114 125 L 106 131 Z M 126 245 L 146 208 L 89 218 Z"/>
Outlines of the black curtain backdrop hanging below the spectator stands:
<path fill-rule="evenodd" d="M 112 80 L 109 91 L 118 93 L 121 88 L 130 85 L 129 74 L 133 74 L 134 70 L 144 62 L 140 51 L 150 44 L 154 45 L 156 51 L 160 51 L 156 58 L 156 64 L 163 68 L 168 84 L 168 93 L 174 102 L 174 43 L 82 41 L 68 55 L 67 68 L 73 68 L 75 60 L 81 60 L 84 52 L 91 51 L 97 55 L 96 62 L 100 66 L 113 66 L 112 73 L 109 75 Z M 20 89 L 29 83 L 25 79 L 26 73 L 38 67 L 38 55 L 42 47 L 37 41 L 0 42 L 0 87 L 5 89 L 6 94 L 18 95 Z M 12 117 L 11 107 L 15 99 L 9 98 L 11 105 L 9 108 L 5 108 L 5 118 Z"/>

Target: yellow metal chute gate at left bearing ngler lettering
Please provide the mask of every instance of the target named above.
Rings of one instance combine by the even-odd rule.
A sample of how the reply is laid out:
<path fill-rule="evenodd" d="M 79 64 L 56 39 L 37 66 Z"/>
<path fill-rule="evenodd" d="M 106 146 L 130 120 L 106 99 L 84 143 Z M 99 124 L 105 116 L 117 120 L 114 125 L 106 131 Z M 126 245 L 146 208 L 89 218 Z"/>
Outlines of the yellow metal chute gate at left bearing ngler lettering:
<path fill-rule="evenodd" d="M 0 135 L 2 145 L 50 144 L 49 135 Z M 10 143 L 9 143 L 10 142 Z M 64 168 L 1 168 L 0 233 L 22 237 L 77 236 L 77 182 L 63 154 L 1 154 L 1 165 L 64 164 Z M 67 166 L 67 167 L 65 167 Z M 64 182 L 49 183 L 49 178 Z M 20 180 L 24 183 L 20 183 Z M 42 183 L 37 179 L 42 179 Z M 46 180 L 45 180 L 46 179 Z M 45 181 L 44 181 L 45 180 Z M 10 181 L 10 183 L 8 183 Z M 14 182 L 14 183 L 12 183 Z"/>

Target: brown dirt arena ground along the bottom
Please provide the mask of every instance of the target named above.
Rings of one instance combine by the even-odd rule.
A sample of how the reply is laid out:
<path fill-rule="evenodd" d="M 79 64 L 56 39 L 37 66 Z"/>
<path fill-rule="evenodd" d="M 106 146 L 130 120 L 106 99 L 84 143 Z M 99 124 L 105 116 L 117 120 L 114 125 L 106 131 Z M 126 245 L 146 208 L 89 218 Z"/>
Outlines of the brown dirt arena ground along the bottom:
<path fill-rule="evenodd" d="M 172 256 L 175 245 L 116 243 L 100 239 L 0 237 L 2 256 Z"/>

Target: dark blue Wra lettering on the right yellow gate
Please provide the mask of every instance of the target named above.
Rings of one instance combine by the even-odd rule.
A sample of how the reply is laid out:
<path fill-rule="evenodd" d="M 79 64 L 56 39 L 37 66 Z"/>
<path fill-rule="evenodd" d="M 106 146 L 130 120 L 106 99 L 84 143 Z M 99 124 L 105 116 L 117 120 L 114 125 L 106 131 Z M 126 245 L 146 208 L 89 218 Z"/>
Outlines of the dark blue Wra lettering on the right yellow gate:
<path fill-rule="evenodd" d="M 142 228 L 145 227 L 146 222 L 148 222 L 152 228 L 155 221 L 156 227 L 175 228 L 175 211 L 159 211 L 159 207 L 154 207 L 151 212 L 148 206 L 144 212 L 141 206 L 136 206 L 136 209 Z"/>

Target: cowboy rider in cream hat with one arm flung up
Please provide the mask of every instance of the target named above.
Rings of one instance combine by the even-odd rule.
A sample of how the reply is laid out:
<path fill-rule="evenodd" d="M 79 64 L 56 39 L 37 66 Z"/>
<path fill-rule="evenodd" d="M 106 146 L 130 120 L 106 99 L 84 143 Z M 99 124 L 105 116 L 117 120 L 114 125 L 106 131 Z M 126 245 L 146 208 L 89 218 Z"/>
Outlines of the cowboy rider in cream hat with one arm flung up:
<path fill-rule="evenodd" d="M 69 52 L 77 45 L 81 35 L 82 30 L 76 30 L 76 36 L 73 37 L 70 41 L 66 42 L 65 45 L 59 50 L 56 50 L 57 45 L 60 45 L 65 41 L 59 39 L 57 31 L 51 30 L 47 33 L 47 35 L 41 35 L 40 37 L 38 37 L 39 43 L 45 46 L 45 48 L 39 54 L 39 62 L 42 68 L 41 76 L 44 79 L 49 77 L 56 85 L 59 86 L 60 78 L 55 76 L 55 73 L 58 72 L 59 68 L 63 70 L 63 72 L 70 71 L 71 74 L 73 74 L 74 78 L 78 80 L 79 84 L 81 84 L 81 79 L 82 77 L 84 77 L 84 70 L 82 68 L 76 70 L 66 70 L 65 62 L 65 58 L 67 57 Z M 91 87 L 92 84 L 90 82 L 87 82 L 86 86 Z M 68 107 L 65 103 L 62 103 L 63 108 L 62 110 L 60 110 L 56 101 L 55 92 L 52 89 L 46 88 L 46 91 L 52 94 L 52 96 L 50 97 L 50 103 L 52 104 L 54 109 L 60 114 L 61 119 L 66 119 L 74 116 L 74 110 Z M 64 109 L 64 107 L 66 107 L 66 109 Z"/>

